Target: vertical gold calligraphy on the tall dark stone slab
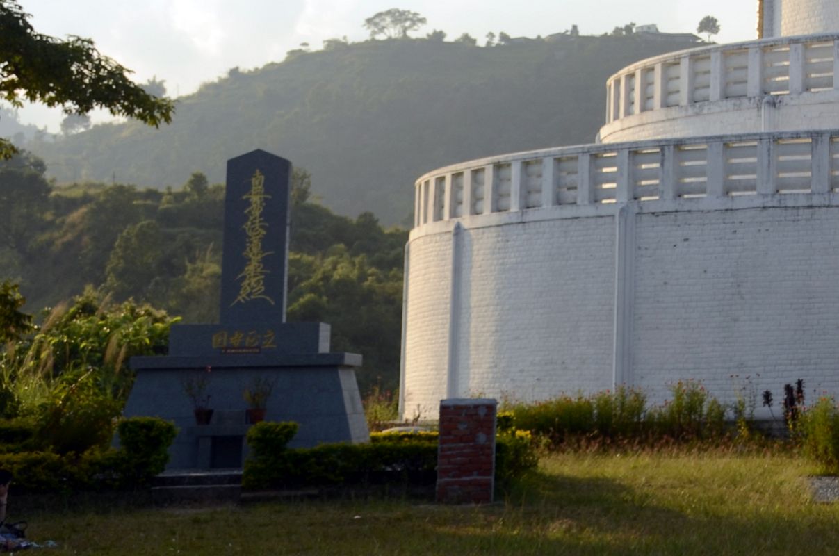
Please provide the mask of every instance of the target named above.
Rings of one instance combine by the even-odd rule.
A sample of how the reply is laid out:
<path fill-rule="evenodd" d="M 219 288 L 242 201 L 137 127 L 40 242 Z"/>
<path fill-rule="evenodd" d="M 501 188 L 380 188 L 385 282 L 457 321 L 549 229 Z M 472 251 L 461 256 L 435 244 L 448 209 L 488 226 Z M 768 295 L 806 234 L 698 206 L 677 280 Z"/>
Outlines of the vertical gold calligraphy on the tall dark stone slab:
<path fill-rule="evenodd" d="M 245 245 L 245 252 L 242 255 L 245 257 L 245 268 L 242 270 L 236 279 L 239 283 L 239 295 L 233 300 L 231 305 L 237 303 L 245 303 L 253 299 L 265 299 L 270 304 L 274 304 L 274 299 L 265 294 L 265 276 L 268 270 L 263 265 L 263 258 L 273 254 L 273 252 L 263 251 L 263 237 L 268 233 L 268 222 L 263 219 L 263 209 L 265 208 L 265 200 L 270 199 L 271 195 L 265 193 L 265 176 L 259 170 L 253 173 L 251 178 L 251 190 L 247 195 L 243 195 L 242 199 L 248 200 L 248 209 L 245 210 L 245 215 L 248 216 L 248 221 L 242 226 L 248 241 Z"/>

